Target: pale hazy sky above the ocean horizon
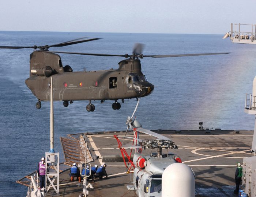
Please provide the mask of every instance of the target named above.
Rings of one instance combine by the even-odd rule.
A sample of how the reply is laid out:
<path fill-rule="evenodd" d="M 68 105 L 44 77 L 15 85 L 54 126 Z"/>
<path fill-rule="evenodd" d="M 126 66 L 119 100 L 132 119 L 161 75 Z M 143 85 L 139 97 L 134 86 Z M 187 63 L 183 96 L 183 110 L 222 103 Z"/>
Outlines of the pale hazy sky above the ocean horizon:
<path fill-rule="evenodd" d="M 225 34 L 255 0 L 1 0 L 1 31 Z"/>

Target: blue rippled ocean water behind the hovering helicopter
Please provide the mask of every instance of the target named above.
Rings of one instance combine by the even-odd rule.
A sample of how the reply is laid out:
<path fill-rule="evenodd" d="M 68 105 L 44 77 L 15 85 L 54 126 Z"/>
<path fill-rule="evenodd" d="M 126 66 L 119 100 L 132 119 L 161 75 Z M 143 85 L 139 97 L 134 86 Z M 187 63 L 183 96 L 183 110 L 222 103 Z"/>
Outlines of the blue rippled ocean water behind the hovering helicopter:
<path fill-rule="evenodd" d="M 144 55 L 230 52 L 227 55 L 178 58 L 143 58 L 142 71 L 155 85 L 154 92 L 140 99 L 137 119 L 147 129 L 206 128 L 253 130 L 253 115 L 244 114 L 245 93 L 252 92 L 256 75 L 256 46 L 232 44 L 223 35 L 114 34 L 77 32 L 0 31 L 0 46 L 56 44 L 88 36 L 101 40 L 51 50 L 103 54 L 131 54 L 134 43 L 145 44 Z M 31 49 L 0 50 L 0 196 L 25 196 L 27 188 L 15 181 L 33 172 L 49 151 L 50 103 L 37 99 L 25 85 L 29 77 Z M 74 71 L 118 68 L 120 57 L 61 54 L 63 65 Z M 113 101 L 87 101 L 65 108 L 54 102 L 54 149 L 62 157 L 59 138 L 70 133 L 125 130 L 136 99 L 125 100 L 120 110 Z M 63 157 L 61 158 L 63 161 Z"/>

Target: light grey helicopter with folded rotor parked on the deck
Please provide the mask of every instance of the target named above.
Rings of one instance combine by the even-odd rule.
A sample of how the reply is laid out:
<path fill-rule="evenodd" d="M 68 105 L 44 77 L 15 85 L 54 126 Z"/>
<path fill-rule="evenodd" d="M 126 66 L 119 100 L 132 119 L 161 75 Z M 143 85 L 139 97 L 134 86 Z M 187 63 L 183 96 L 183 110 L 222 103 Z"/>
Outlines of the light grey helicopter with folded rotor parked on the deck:
<path fill-rule="evenodd" d="M 133 115 L 138 107 L 138 103 Z M 128 190 L 135 190 L 139 197 L 161 197 L 163 171 L 173 163 L 182 162 L 178 155 L 168 153 L 168 149 L 177 149 L 178 147 L 171 139 L 143 129 L 142 125 L 136 119 L 133 119 L 133 115 L 131 118 L 128 117 L 126 122 L 127 131 L 128 129 L 133 130 L 133 137 L 126 136 L 127 132 L 125 136 L 114 135 L 122 156 L 105 155 L 102 157 L 102 162 L 124 162 L 127 173 L 133 173 L 133 185 L 128 185 Z M 142 140 L 139 139 L 139 133 L 148 134 L 157 139 Z M 133 142 L 132 144 L 124 144 L 120 141 L 122 138 L 123 142 L 125 138 L 133 139 Z M 127 148 L 131 148 L 131 152 L 128 151 L 129 153 L 127 153 L 125 150 Z M 134 155 L 132 155 L 132 149 L 135 149 Z M 143 155 L 142 149 L 151 149 L 151 154 Z M 153 153 L 153 149 L 157 149 L 157 152 Z M 166 153 L 163 153 L 162 149 L 166 149 Z"/>

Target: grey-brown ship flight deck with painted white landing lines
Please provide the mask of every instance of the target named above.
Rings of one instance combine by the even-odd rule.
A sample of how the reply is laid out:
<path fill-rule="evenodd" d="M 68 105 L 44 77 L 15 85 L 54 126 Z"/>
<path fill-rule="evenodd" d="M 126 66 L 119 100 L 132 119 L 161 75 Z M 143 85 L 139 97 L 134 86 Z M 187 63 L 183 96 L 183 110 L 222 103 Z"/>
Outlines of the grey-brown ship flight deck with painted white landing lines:
<path fill-rule="evenodd" d="M 157 131 L 156 131 L 157 132 Z M 168 150 L 181 157 L 182 162 L 191 166 L 196 174 L 196 196 L 237 196 L 233 194 L 235 189 L 234 173 L 236 162 L 242 162 L 244 157 L 251 157 L 253 131 L 242 131 L 234 134 L 233 130 L 212 130 L 210 134 L 198 130 L 181 130 L 175 133 L 174 130 L 163 130 L 157 132 L 172 139 L 178 149 Z M 113 135 L 121 136 L 125 132 L 109 132 L 94 134 L 89 133 L 89 147 L 93 147 L 92 155 L 99 156 L 92 165 L 102 163 L 103 155 L 121 155 L 117 147 L 117 141 Z M 133 133 L 128 132 L 127 136 L 132 137 Z M 140 134 L 140 139 L 154 139 L 154 137 Z M 127 138 L 124 144 L 131 143 Z M 127 149 L 129 150 L 129 149 Z M 150 154 L 150 150 L 143 150 L 143 154 Z M 165 150 L 163 150 L 165 154 Z M 106 172 L 109 179 L 96 179 L 92 183 L 95 189 L 89 191 L 89 196 L 95 197 L 133 197 L 134 191 L 128 191 L 126 186 L 132 185 L 133 174 L 127 174 L 123 162 L 107 163 Z M 82 187 L 78 182 L 70 182 L 69 172 L 60 175 L 60 196 L 78 196 Z M 128 193 L 129 192 L 129 193 Z M 56 196 L 48 192 L 48 196 Z"/>

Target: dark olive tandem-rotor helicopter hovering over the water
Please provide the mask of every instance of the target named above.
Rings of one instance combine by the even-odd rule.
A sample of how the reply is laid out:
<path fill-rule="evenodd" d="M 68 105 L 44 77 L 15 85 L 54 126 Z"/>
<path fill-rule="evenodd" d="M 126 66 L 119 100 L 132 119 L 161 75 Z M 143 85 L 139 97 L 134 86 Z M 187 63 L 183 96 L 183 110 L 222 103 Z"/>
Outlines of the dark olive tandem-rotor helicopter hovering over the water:
<path fill-rule="evenodd" d="M 87 111 L 94 111 L 95 106 L 91 101 L 113 100 L 112 108 L 119 110 L 124 99 L 140 98 L 147 96 L 154 90 L 154 85 L 147 81 L 142 73 L 139 58 L 167 58 L 198 55 L 218 55 L 227 53 L 207 54 L 179 54 L 179 55 L 143 55 L 142 44 L 136 44 L 132 55 L 91 54 L 76 52 L 49 51 L 50 47 L 63 47 L 98 40 L 100 38 L 80 38 L 68 42 L 45 46 L 0 46 L 4 49 L 34 48 L 30 54 L 30 75 L 25 80 L 27 87 L 37 97 L 37 109 L 41 108 L 41 101 L 50 100 L 50 77 L 53 79 L 53 100 L 63 101 L 64 107 L 74 101 L 89 101 Z M 61 58 L 56 53 L 94 55 L 94 56 L 119 56 L 125 59 L 120 61 L 118 69 L 98 71 L 73 72 L 71 66 L 63 66 Z"/>

